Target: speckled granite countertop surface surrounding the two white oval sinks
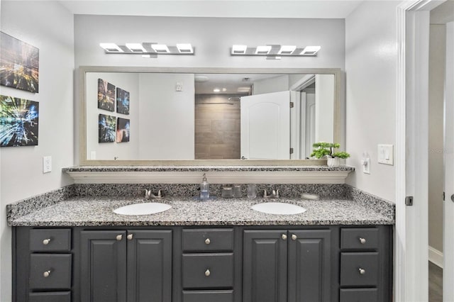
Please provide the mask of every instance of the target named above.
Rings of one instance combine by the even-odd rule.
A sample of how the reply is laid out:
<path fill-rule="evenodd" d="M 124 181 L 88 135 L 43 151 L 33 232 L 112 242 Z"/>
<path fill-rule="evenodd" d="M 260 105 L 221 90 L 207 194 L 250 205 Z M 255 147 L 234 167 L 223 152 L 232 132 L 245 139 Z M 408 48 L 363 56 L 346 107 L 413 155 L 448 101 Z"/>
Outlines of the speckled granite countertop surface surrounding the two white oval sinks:
<path fill-rule="evenodd" d="M 275 215 L 250 208 L 261 202 L 294 203 L 307 209 L 296 215 Z M 9 220 L 12 226 L 145 226 L 145 225 L 392 225 L 394 209 L 365 205 L 348 198 L 214 198 L 172 197 L 146 202 L 169 203 L 165 212 L 126 216 L 115 208 L 144 202 L 143 198 L 72 197 Z M 375 207 L 375 208 L 374 208 Z"/>

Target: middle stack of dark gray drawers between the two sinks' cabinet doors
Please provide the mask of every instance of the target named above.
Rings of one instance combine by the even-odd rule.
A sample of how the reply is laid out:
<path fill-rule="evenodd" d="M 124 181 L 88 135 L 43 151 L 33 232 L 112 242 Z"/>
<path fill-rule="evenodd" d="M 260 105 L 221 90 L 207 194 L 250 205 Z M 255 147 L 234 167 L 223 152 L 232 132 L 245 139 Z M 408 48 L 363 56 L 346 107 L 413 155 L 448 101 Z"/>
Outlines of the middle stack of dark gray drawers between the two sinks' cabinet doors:
<path fill-rule="evenodd" d="M 183 302 L 233 302 L 233 228 L 184 229 Z"/>

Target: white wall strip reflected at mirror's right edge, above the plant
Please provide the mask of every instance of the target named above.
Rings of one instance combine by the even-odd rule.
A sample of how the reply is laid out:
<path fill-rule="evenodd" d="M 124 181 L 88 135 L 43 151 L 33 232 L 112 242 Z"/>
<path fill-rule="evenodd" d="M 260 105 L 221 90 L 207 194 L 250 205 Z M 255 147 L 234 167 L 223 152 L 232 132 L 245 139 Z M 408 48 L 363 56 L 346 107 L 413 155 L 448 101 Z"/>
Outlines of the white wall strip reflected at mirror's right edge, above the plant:
<path fill-rule="evenodd" d="M 333 142 L 334 74 L 315 75 L 315 141 Z M 338 142 L 341 143 L 341 142 Z"/>

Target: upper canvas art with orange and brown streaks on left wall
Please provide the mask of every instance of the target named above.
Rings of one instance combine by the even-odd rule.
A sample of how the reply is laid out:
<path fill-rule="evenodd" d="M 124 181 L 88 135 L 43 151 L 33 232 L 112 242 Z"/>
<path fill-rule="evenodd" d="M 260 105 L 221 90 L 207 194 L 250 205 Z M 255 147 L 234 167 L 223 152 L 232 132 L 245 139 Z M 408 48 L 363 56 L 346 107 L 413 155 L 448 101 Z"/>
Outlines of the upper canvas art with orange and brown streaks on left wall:
<path fill-rule="evenodd" d="M 0 32 L 0 84 L 38 92 L 39 50 Z"/>

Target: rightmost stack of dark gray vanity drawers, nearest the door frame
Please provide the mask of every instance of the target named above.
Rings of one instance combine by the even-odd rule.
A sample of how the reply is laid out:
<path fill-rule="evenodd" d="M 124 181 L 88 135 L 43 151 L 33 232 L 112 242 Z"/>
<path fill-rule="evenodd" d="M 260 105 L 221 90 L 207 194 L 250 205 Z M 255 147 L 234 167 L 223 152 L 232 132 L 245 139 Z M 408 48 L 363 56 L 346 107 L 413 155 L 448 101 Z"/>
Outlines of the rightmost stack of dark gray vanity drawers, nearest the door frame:
<path fill-rule="evenodd" d="M 341 229 L 341 302 L 380 301 L 379 262 L 377 228 Z"/>

